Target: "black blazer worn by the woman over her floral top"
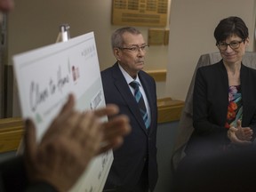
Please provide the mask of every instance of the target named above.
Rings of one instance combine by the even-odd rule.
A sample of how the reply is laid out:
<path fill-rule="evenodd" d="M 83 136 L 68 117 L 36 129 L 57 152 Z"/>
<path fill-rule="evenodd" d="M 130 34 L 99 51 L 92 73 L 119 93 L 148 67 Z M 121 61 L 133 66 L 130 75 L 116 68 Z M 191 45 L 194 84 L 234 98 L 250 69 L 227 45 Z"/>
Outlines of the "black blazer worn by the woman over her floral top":
<path fill-rule="evenodd" d="M 243 100 L 242 126 L 256 132 L 256 70 L 240 69 Z M 193 125 L 186 153 L 218 152 L 221 144 L 229 142 L 224 128 L 228 113 L 228 74 L 223 61 L 198 68 L 193 93 Z M 204 144 L 203 144 L 204 143 Z"/>

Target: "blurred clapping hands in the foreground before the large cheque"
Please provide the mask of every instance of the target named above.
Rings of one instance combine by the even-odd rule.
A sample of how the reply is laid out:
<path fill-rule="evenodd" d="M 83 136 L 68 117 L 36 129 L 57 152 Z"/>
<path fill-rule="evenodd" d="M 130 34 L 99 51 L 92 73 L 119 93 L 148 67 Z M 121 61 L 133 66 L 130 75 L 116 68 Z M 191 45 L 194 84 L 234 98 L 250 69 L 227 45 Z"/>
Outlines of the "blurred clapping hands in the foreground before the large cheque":
<path fill-rule="evenodd" d="M 116 106 L 85 113 L 75 111 L 74 106 L 70 95 L 39 143 L 35 124 L 26 122 L 24 160 L 32 182 L 44 180 L 59 191 L 68 191 L 93 156 L 120 146 L 131 130 L 127 116 L 100 121 L 101 116 L 116 115 Z M 106 145 L 102 147 L 102 143 Z"/>

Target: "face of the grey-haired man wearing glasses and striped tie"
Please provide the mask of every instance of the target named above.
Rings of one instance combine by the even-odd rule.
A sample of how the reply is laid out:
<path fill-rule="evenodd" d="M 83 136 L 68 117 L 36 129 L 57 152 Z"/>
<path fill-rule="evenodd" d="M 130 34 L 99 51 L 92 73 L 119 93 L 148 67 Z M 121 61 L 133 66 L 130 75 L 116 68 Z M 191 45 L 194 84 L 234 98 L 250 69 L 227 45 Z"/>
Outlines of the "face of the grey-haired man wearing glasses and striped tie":
<path fill-rule="evenodd" d="M 145 47 L 146 43 L 141 34 L 133 35 L 124 33 L 124 49 L 116 49 L 118 61 L 124 70 L 132 77 L 137 76 L 138 72 L 144 67 Z M 127 48 L 136 48 L 137 51 L 132 51 Z M 141 48 L 140 48 L 141 47 Z"/>

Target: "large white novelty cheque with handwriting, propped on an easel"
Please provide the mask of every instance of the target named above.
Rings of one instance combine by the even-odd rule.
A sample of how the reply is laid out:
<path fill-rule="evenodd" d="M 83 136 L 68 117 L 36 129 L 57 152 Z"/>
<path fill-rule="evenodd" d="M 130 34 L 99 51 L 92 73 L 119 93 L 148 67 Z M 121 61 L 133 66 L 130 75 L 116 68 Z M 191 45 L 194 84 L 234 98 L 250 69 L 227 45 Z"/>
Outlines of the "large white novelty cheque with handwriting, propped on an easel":
<path fill-rule="evenodd" d="M 76 97 L 77 110 L 106 105 L 92 32 L 15 55 L 13 62 L 22 117 L 36 123 L 37 140 L 41 140 L 70 92 Z M 102 118 L 107 120 L 107 116 Z M 112 162 L 111 150 L 95 157 L 71 191 L 102 191 Z"/>

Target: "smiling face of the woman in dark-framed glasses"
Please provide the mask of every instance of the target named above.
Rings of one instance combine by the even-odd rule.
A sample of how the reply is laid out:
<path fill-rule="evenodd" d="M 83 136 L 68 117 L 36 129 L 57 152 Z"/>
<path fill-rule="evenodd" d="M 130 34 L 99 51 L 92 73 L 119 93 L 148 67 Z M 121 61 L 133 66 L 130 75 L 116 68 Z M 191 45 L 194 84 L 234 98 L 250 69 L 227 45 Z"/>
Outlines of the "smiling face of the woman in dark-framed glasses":
<path fill-rule="evenodd" d="M 235 64 L 235 63 L 241 63 L 242 58 L 244 56 L 244 52 L 245 52 L 245 48 L 246 46 L 249 44 L 249 39 L 245 39 L 243 41 L 243 39 L 239 36 L 236 35 L 232 35 L 232 36 L 228 36 L 228 38 L 223 41 L 220 42 L 220 44 L 222 45 L 222 49 L 220 49 L 220 45 L 219 45 L 219 50 L 220 50 L 220 55 L 223 59 L 223 62 L 226 64 Z M 227 46 L 226 50 L 223 50 L 223 45 L 225 47 L 225 44 Z M 230 45 L 231 44 L 231 45 Z M 236 48 L 234 48 L 235 46 L 237 46 Z"/>

